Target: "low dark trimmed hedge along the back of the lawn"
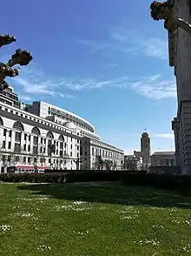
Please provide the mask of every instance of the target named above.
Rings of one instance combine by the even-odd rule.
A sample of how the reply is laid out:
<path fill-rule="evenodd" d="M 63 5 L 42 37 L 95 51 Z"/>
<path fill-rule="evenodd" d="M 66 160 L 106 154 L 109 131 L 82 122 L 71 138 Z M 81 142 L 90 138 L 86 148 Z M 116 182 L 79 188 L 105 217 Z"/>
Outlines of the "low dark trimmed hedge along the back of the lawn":
<path fill-rule="evenodd" d="M 11 183 L 65 183 L 91 181 L 122 181 L 123 185 L 154 186 L 191 193 L 191 177 L 146 172 L 54 172 L 54 173 L 1 173 L 0 181 Z"/>

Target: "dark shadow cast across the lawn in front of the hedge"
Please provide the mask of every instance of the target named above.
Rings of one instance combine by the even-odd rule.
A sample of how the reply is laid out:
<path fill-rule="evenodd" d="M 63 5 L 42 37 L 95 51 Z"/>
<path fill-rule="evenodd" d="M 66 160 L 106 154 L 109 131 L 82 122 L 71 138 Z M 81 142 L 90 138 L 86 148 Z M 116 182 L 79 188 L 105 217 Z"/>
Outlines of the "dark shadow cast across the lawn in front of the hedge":
<path fill-rule="evenodd" d="M 46 195 L 54 199 L 191 209 L 191 196 L 185 197 L 177 192 L 157 190 L 153 187 L 121 185 L 117 182 L 30 184 L 17 185 L 17 189 L 32 191 L 33 194 Z"/>

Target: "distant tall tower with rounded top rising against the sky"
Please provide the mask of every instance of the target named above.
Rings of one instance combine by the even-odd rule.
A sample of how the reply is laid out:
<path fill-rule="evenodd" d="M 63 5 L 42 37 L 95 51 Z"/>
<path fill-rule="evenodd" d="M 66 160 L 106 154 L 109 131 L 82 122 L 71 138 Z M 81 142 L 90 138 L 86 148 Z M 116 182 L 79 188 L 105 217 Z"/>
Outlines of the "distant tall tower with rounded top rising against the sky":
<path fill-rule="evenodd" d="M 142 150 L 142 163 L 149 165 L 150 164 L 150 138 L 148 136 L 148 132 L 142 133 L 141 150 Z"/>

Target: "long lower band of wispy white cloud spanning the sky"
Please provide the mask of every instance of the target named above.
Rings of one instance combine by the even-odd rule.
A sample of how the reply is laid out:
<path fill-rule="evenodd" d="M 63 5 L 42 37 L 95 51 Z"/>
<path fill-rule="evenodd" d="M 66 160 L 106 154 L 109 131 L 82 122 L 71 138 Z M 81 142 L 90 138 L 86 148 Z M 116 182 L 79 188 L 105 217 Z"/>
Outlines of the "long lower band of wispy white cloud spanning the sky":
<path fill-rule="evenodd" d="M 43 71 L 26 68 L 22 69 L 21 74 L 14 78 L 16 84 L 21 87 L 20 93 L 25 97 L 32 95 L 49 95 L 61 98 L 75 98 L 69 91 L 98 90 L 102 87 L 113 87 L 121 90 L 133 90 L 147 98 L 175 98 L 175 80 L 168 80 L 155 74 L 148 77 L 124 76 L 115 78 L 98 79 L 96 77 L 59 77 L 50 78 L 43 74 Z"/>

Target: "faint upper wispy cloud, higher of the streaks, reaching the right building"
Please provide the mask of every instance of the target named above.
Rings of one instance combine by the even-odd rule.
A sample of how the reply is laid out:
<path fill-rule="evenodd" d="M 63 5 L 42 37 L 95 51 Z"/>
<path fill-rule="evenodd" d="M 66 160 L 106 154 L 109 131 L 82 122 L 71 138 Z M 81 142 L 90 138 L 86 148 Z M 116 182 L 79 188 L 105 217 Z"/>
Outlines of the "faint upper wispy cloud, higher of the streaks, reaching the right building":
<path fill-rule="evenodd" d="M 102 52 L 104 54 L 113 53 L 133 53 L 139 56 L 155 57 L 166 59 L 168 57 L 168 42 L 158 37 L 141 37 L 136 30 L 130 31 L 128 28 L 115 27 L 110 30 L 107 40 L 95 41 L 92 39 L 76 40 L 78 44 L 86 46 L 90 53 Z"/>

